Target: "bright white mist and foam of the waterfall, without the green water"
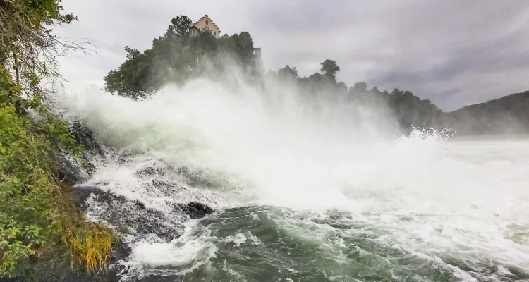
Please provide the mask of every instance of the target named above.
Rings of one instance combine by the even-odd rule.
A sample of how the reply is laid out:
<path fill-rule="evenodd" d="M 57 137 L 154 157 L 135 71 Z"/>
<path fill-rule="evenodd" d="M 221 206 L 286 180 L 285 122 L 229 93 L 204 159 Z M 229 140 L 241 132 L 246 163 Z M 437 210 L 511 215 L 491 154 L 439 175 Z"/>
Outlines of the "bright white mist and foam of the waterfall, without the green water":
<path fill-rule="evenodd" d="M 379 111 L 324 102 L 312 111 L 295 91 L 274 89 L 196 80 L 142 102 L 90 92 L 62 103 L 109 145 L 225 181 L 232 204 L 339 209 L 407 252 L 529 269 L 528 140 L 398 138 Z"/>

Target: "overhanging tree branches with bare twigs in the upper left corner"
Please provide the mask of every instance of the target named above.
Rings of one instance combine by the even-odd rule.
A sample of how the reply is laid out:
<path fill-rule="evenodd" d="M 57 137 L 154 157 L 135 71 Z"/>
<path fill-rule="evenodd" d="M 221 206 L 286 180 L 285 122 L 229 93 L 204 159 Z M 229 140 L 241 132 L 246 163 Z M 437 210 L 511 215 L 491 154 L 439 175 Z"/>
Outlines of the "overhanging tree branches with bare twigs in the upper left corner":
<path fill-rule="evenodd" d="M 41 87 L 42 78 L 52 85 L 62 80 L 56 57 L 86 51 L 83 44 L 56 37 L 50 28 L 77 20 L 71 13 L 63 13 L 61 0 L 0 2 L 0 64 L 13 75 L 22 94 L 47 93 L 49 90 Z"/>

